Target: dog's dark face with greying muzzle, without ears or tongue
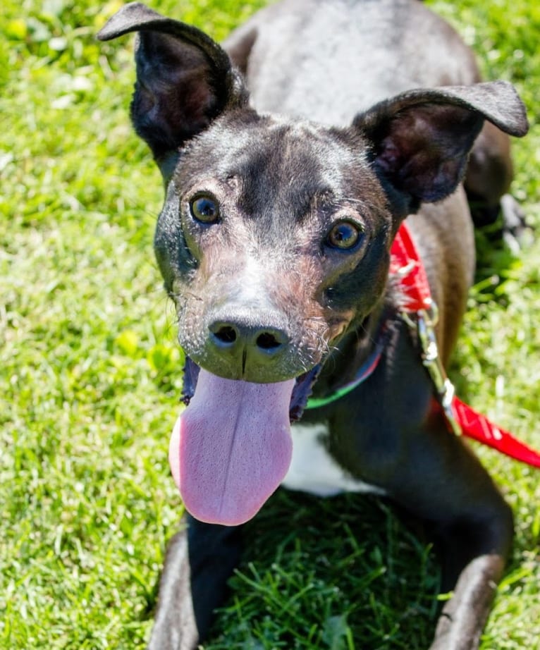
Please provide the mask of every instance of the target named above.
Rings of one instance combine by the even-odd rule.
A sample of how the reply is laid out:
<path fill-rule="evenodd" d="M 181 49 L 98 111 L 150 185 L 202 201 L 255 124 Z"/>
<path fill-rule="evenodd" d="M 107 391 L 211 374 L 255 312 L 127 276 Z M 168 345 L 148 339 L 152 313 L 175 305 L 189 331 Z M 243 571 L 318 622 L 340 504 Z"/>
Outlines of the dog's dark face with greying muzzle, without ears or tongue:
<path fill-rule="evenodd" d="M 244 110 L 180 153 L 155 247 L 194 362 L 282 381 L 368 317 L 393 219 L 358 140 Z"/>

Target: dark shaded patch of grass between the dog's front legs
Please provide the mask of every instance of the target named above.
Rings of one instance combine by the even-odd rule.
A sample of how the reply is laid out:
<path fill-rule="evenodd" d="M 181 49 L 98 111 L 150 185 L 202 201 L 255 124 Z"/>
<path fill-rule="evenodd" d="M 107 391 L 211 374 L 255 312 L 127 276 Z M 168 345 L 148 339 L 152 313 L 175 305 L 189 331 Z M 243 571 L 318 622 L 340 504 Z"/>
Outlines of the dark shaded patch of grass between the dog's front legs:
<path fill-rule="evenodd" d="M 429 646 L 436 558 L 384 501 L 280 489 L 244 537 L 205 650 Z"/>

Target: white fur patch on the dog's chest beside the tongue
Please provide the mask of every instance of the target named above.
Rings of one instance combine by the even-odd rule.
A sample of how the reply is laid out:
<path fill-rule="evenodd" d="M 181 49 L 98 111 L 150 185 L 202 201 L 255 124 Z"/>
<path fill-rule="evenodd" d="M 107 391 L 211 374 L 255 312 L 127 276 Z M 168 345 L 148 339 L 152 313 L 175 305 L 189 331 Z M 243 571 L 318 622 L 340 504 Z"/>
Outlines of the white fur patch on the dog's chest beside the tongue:
<path fill-rule="evenodd" d="M 324 446 L 329 435 L 327 424 L 294 424 L 293 460 L 281 483 L 291 490 L 302 490 L 317 496 L 333 496 L 340 492 L 384 494 L 384 490 L 354 479 L 338 465 Z"/>

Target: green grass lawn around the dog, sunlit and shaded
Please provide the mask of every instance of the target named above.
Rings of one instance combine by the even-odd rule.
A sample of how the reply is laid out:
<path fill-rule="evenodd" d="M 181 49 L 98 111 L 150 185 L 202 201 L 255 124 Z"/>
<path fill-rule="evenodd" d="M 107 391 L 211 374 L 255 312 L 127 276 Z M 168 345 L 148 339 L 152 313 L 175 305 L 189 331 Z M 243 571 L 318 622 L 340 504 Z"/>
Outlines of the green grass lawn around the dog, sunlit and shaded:
<path fill-rule="evenodd" d="M 222 38 L 261 4 L 153 6 Z M 486 76 L 513 80 L 524 97 L 532 129 L 515 142 L 513 191 L 538 227 L 540 8 L 430 4 L 477 50 Z M 144 647 L 182 511 L 166 460 L 181 358 L 152 254 L 160 178 L 128 124 L 131 46 L 94 39 L 118 6 L 3 4 L 1 649 Z M 518 257 L 479 244 L 453 376 L 463 398 L 540 446 L 540 243 Z M 481 647 L 538 648 L 539 474 L 479 454 L 517 532 Z M 429 644 L 437 563 L 385 504 L 278 493 L 248 532 L 207 650 Z"/>

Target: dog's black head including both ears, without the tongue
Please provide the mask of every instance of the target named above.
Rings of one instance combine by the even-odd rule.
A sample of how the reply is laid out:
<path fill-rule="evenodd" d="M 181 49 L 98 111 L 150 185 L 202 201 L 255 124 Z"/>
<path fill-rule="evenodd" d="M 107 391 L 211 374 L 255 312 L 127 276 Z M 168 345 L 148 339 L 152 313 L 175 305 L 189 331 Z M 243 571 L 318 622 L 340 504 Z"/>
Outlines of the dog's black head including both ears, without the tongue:
<path fill-rule="evenodd" d="M 216 378 L 259 397 L 283 384 L 290 400 L 291 380 L 381 305 L 400 221 L 455 190 L 484 118 L 526 125 L 502 82 L 407 92 L 349 128 L 261 115 L 203 32 L 130 4 L 99 37 L 133 31 L 131 115 L 166 185 L 155 250 L 180 343 L 213 378 L 205 400 Z"/>

